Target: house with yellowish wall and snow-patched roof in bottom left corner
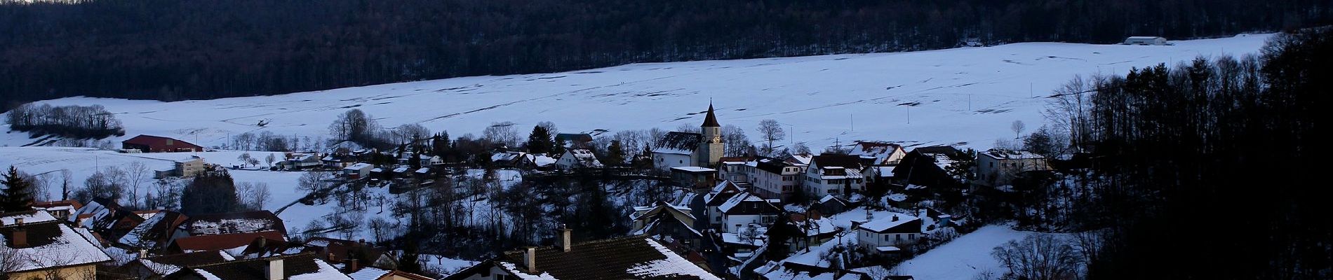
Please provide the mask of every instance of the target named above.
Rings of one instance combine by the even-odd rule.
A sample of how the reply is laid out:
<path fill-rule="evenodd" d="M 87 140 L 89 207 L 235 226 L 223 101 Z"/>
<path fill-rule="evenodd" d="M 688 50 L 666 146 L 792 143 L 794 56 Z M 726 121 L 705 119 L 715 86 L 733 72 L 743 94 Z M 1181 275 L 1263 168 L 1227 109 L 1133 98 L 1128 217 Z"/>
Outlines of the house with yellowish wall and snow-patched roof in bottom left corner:
<path fill-rule="evenodd" d="M 89 232 L 80 232 L 45 211 L 0 214 L 0 275 L 8 279 L 97 279 L 111 261 Z"/>

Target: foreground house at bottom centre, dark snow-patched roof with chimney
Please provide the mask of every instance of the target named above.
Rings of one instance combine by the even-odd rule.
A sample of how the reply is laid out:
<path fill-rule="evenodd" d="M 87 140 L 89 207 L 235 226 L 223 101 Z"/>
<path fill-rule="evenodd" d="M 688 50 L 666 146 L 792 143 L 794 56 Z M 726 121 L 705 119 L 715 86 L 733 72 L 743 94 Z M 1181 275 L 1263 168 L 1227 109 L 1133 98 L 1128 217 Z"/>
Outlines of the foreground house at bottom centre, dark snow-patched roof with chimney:
<path fill-rule="evenodd" d="M 465 268 L 445 280 L 721 280 L 708 269 L 647 236 L 573 244 L 561 231 L 556 247 L 525 247 Z"/>

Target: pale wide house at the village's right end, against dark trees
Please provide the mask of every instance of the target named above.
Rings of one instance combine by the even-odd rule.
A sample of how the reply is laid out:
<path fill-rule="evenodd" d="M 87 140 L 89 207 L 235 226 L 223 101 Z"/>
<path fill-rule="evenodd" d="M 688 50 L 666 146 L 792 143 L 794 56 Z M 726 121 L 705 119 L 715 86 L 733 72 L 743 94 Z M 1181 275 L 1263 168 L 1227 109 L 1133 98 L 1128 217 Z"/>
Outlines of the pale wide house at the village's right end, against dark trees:
<path fill-rule="evenodd" d="M 977 179 L 972 183 L 988 187 L 1005 186 L 1021 173 L 1044 170 L 1050 170 L 1046 157 L 1032 151 L 990 149 L 977 153 Z"/>

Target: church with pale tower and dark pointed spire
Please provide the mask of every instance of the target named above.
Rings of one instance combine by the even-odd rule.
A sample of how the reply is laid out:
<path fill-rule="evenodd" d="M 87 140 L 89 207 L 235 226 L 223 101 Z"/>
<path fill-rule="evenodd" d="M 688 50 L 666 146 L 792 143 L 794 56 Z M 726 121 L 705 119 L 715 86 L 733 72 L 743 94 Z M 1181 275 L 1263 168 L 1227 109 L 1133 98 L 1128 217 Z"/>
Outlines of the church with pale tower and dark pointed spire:
<path fill-rule="evenodd" d="M 722 158 L 722 126 L 717 123 L 713 105 L 700 125 L 702 134 L 670 131 L 653 147 L 653 166 L 663 170 L 682 166 L 716 167 Z"/>

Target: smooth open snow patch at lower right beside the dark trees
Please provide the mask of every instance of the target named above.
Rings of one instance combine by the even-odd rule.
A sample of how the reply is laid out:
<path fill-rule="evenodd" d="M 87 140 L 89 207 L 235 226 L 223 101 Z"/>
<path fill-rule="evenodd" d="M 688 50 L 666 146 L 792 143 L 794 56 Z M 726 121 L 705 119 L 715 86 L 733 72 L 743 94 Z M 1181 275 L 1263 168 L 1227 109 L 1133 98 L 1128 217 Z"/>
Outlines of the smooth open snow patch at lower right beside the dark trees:
<path fill-rule="evenodd" d="M 940 280 L 969 280 L 982 272 L 1002 275 L 1005 268 L 990 256 L 993 248 L 1032 234 L 1034 232 L 1014 231 L 1008 226 L 985 226 L 902 261 L 896 269 L 900 275 L 910 275 L 916 279 Z"/>

